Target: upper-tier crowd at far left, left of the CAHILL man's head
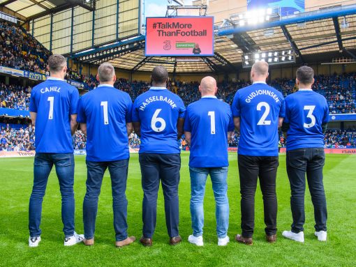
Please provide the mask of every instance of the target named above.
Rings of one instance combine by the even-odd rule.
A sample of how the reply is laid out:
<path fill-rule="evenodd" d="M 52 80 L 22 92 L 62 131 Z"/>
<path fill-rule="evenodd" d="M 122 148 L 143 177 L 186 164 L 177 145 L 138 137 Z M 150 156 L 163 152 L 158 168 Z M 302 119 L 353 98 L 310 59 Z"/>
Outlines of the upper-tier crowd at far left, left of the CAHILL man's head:
<path fill-rule="evenodd" d="M 50 52 L 17 26 L 0 21 L 0 66 L 44 73 Z"/>

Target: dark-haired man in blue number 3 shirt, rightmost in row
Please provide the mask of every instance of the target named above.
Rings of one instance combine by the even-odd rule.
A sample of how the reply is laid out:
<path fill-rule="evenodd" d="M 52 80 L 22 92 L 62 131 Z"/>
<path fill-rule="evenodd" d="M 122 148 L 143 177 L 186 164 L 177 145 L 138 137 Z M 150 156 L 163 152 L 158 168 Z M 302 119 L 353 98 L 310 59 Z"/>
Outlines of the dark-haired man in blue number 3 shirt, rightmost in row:
<path fill-rule="evenodd" d="M 283 236 L 304 242 L 305 174 L 316 220 L 315 235 L 319 241 L 327 240 L 327 205 L 322 167 L 325 163 L 324 133 L 329 121 L 329 108 L 324 96 L 311 90 L 314 71 L 308 66 L 297 69 L 299 90 L 285 98 L 285 120 L 282 130 L 287 135 L 287 173 L 290 181 L 290 208 L 292 230 Z"/>

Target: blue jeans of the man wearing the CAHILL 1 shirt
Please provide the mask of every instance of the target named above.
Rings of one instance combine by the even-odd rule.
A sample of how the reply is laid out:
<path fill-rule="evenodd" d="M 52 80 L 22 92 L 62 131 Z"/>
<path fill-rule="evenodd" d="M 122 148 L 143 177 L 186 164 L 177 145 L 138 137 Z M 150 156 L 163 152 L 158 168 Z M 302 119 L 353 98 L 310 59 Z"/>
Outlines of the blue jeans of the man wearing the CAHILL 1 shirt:
<path fill-rule="evenodd" d="M 40 236 L 40 218 L 42 202 L 45 196 L 48 176 L 53 165 L 59 180 L 62 197 L 62 222 L 64 235 L 74 234 L 74 156 L 73 153 L 36 153 L 34 160 L 34 187 L 29 201 L 30 236 Z"/>

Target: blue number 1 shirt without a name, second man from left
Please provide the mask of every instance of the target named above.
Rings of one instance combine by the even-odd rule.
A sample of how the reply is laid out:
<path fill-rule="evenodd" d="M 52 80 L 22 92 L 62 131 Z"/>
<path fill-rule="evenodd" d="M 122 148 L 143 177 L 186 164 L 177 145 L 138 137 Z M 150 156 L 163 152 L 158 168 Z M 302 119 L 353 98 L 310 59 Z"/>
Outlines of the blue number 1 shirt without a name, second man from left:
<path fill-rule="evenodd" d="M 126 123 L 131 123 L 128 93 L 101 84 L 79 101 L 77 121 L 87 123 L 87 160 L 126 160 L 130 157 Z"/>

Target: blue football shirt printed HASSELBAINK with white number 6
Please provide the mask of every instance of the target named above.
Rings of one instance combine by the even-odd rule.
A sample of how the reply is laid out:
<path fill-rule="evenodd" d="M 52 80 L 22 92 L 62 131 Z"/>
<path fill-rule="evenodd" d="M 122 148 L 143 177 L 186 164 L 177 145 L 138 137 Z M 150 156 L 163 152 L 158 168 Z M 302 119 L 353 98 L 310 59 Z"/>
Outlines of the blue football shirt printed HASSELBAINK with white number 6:
<path fill-rule="evenodd" d="M 141 123 L 140 153 L 180 153 L 178 118 L 185 116 L 184 103 L 163 87 L 151 87 L 133 103 L 133 122 Z"/>

